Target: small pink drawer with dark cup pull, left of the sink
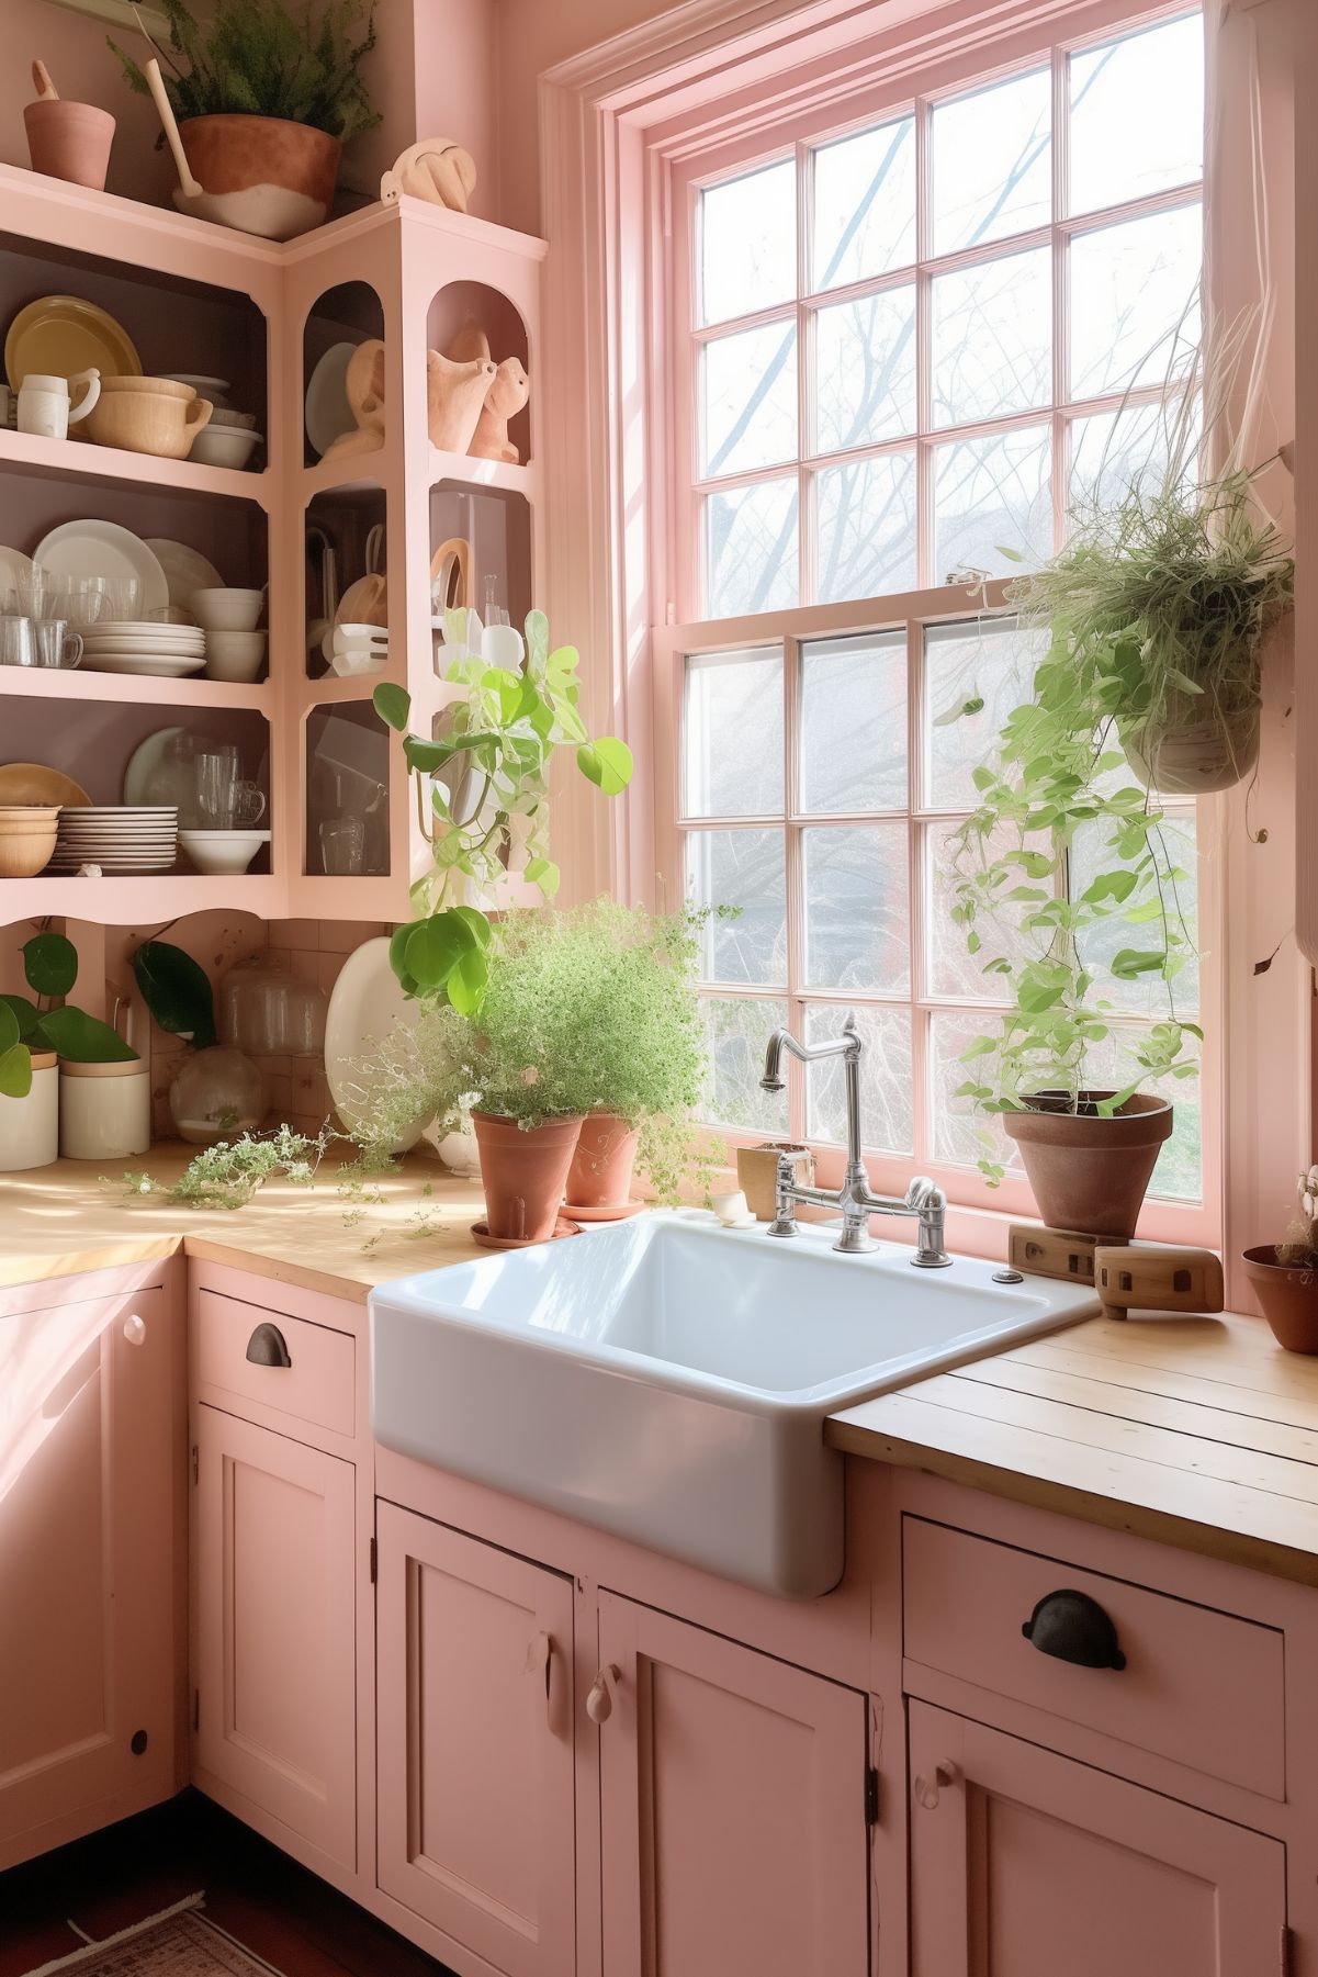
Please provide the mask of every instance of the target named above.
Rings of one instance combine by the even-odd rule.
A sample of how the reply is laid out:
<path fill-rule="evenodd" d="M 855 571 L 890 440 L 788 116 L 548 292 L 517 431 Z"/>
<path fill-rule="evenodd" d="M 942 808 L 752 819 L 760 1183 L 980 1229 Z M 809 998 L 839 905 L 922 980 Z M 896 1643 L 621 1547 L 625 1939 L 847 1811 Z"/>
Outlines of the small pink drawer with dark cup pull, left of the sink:
<path fill-rule="evenodd" d="M 288 1354 L 288 1364 L 269 1364 L 267 1358 L 247 1358 L 253 1336 L 255 1350 L 279 1344 L 271 1338 L 269 1327 Z M 283 1311 L 265 1311 L 261 1305 L 243 1305 L 237 1297 L 221 1297 L 217 1291 L 202 1291 L 192 1317 L 192 1372 L 194 1382 L 204 1392 L 204 1400 L 219 1400 L 223 1406 L 237 1402 L 235 1412 L 243 1412 L 243 1402 L 255 1402 L 275 1414 L 285 1414 L 294 1421 L 310 1421 L 328 1427 L 336 1435 L 356 1433 L 356 1360 L 358 1344 L 350 1332 L 334 1332 L 328 1325 L 308 1325 L 304 1319 L 290 1319 Z"/>

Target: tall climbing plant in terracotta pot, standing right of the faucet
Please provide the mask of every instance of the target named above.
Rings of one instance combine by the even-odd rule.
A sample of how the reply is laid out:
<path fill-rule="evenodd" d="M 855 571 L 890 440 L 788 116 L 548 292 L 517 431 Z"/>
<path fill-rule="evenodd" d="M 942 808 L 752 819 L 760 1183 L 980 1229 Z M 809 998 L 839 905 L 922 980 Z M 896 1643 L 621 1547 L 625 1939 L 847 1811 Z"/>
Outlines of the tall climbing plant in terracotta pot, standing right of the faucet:
<path fill-rule="evenodd" d="M 980 805 L 952 836 L 948 882 L 952 919 L 1008 994 L 962 1054 L 956 1095 L 1000 1115 L 1045 1224 L 1124 1240 L 1172 1133 L 1172 1107 L 1144 1087 L 1194 1077 L 1201 1030 L 1176 1002 L 1194 959 L 1188 874 L 1114 722 L 1111 682 L 1057 625 L 996 759 L 974 771 Z M 1138 981 L 1164 1002 L 1148 1026 L 1122 1022 L 1118 988 Z M 998 1159 L 980 1166 L 1002 1178 Z"/>

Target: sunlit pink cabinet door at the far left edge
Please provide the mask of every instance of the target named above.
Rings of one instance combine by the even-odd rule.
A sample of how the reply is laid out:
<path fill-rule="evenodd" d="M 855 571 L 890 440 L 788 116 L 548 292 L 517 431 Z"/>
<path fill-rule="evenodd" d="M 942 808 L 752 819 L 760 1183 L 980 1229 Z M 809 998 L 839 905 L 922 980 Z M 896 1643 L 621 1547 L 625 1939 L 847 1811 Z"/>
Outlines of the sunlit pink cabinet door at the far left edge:
<path fill-rule="evenodd" d="M 0 1319 L 0 1864 L 172 1789 L 174 1346 L 162 1289 Z"/>

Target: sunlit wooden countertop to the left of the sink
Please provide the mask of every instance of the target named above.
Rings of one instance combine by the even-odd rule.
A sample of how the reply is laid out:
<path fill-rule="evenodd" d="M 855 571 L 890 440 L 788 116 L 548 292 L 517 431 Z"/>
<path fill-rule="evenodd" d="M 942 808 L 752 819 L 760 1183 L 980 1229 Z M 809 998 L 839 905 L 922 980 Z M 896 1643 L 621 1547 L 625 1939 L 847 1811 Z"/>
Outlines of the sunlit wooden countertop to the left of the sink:
<path fill-rule="evenodd" d="M 326 1160 L 314 1188 L 267 1182 L 247 1208 L 176 1208 L 134 1198 L 124 1168 L 174 1180 L 196 1149 L 152 1147 L 136 1160 L 57 1160 L 0 1176 L 0 1287 L 69 1277 L 160 1255 L 207 1257 L 281 1283 L 366 1303 L 373 1285 L 482 1255 L 470 1224 L 480 1184 L 454 1180 L 437 1159 L 409 1155 L 401 1172 L 346 1192 Z"/>

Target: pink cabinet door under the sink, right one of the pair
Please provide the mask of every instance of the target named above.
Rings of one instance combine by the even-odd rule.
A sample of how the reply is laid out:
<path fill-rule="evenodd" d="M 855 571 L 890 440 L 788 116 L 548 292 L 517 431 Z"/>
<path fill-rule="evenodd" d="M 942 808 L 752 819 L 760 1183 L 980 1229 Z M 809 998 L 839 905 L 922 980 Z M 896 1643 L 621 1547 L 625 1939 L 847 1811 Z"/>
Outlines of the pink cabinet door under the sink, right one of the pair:
<path fill-rule="evenodd" d="M 601 1661 L 607 1977 L 864 1977 L 865 1698 L 613 1593 Z"/>

